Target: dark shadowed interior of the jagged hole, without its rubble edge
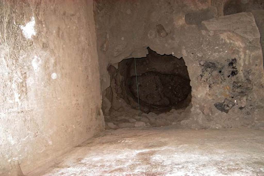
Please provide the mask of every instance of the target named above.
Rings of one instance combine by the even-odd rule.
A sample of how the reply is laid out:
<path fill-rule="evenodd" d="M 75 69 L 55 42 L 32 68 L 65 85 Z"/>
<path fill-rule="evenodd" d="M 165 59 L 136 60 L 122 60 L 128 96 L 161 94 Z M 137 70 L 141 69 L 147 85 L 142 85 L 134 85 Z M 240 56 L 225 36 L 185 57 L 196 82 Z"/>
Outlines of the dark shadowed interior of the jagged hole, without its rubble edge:
<path fill-rule="evenodd" d="M 148 47 L 149 54 L 136 58 L 140 110 L 162 113 L 187 107 L 191 102 L 191 86 L 183 58 L 159 55 Z M 134 58 L 119 63 L 114 78 L 118 96 L 138 109 L 138 92 Z M 118 76 L 120 74 L 120 76 Z"/>

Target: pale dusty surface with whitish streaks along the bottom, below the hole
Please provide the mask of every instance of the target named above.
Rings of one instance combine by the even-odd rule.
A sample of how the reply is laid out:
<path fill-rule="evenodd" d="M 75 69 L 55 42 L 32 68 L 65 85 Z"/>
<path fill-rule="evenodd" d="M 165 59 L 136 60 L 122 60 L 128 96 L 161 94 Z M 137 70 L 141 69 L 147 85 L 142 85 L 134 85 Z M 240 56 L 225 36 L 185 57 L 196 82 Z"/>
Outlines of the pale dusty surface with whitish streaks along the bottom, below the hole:
<path fill-rule="evenodd" d="M 264 131 L 107 130 L 51 164 L 29 175 L 264 175 Z"/>

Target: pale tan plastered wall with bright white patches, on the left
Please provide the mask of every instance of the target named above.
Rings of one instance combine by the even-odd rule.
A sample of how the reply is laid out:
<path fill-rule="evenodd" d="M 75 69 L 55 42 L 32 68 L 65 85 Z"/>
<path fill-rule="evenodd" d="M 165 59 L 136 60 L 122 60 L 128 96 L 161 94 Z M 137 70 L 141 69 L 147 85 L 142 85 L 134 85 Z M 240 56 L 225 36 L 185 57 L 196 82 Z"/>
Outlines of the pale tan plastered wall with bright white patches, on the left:
<path fill-rule="evenodd" d="M 0 1 L 0 175 L 18 163 L 26 174 L 104 129 L 92 8 Z"/>

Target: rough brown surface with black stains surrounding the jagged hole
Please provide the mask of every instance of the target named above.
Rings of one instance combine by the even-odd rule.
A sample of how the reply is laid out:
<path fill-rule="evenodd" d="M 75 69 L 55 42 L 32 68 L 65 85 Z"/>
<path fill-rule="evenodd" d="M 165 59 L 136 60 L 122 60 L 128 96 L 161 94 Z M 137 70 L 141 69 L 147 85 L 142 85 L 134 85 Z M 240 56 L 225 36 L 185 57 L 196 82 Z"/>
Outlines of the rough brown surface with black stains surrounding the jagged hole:
<path fill-rule="evenodd" d="M 118 102 L 128 110 L 120 97 L 105 96 L 111 94 L 105 91 L 110 85 L 109 64 L 118 67 L 122 59 L 144 57 L 149 46 L 158 54 L 183 57 L 188 67 L 192 107 L 181 125 L 262 123 L 263 59 L 252 13 L 222 16 L 225 2 L 220 1 L 95 2 L 104 110 L 118 107 Z"/>

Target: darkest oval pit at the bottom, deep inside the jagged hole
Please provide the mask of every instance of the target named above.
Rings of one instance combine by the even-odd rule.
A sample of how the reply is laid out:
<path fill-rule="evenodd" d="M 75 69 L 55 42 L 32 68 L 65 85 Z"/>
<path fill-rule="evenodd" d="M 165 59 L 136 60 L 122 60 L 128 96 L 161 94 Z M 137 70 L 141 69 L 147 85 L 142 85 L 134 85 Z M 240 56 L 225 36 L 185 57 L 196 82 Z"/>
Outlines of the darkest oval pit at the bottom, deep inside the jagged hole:
<path fill-rule="evenodd" d="M 173 74 L 147 72 L 138 77 L 139 97 L 141 106 L 147 106 L 150 111 L 168 109 L 188 97 L 191 91 L 190 80 Z M 136 78 L 131 77 L 128 87 L 133 97 L 137 99 Z"/>

